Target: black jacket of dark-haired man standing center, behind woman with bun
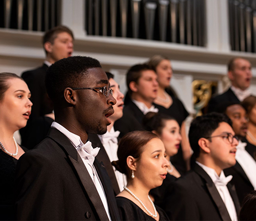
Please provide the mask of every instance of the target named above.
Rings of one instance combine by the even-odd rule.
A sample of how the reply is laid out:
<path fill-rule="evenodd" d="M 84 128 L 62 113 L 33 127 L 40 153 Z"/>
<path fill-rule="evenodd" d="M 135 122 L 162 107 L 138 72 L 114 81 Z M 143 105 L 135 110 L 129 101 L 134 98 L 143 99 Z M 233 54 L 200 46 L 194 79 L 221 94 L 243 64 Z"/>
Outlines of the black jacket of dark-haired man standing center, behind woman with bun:
<path fill-rule="evenodd" d="M 123 137 L 125 134 L 132 131 L 143 130 L 142 119 L 144 114 L 137 107 L 135 103 L 130 101 L 128 105 L 124 107 L 123 117 L 115 122 L 115 129 L 120 131 L 119 137 Z"/>

